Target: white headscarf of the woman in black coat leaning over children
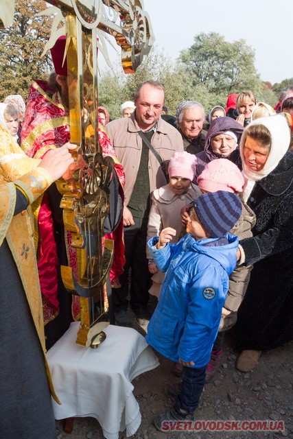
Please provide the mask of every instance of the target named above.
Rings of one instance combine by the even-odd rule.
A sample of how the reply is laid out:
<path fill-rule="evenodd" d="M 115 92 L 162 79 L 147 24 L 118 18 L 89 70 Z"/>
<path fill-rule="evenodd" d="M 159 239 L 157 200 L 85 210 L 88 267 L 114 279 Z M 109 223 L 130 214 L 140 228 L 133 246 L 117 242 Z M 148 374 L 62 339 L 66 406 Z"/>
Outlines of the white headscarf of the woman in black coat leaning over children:
<path fill-rule="evenodd" d="M 272 144 L 270 145 L 270 152 L 268 154 L 267 161 L 261 171 L 251 171 L 245 163 L 243 154 L 245 132 L 253 125 L 263 125 L 270 131 L 272 137 Z M 285 156 L 290 144 L 290 131 L 288 123 L 283 115 L 274 115 L 269 117 L 261 117 L 251 122 L 250 125 L 244 130 L 240 143 L 240 155 L 242 158 L 242 174 L 244 175 L 245 184 L 243 191 L 243 199 L 247 201 L 250 193 L 253 191 L 253 187 L 256 181 L 268 176 L 279 164 L 279 161 Z"/>

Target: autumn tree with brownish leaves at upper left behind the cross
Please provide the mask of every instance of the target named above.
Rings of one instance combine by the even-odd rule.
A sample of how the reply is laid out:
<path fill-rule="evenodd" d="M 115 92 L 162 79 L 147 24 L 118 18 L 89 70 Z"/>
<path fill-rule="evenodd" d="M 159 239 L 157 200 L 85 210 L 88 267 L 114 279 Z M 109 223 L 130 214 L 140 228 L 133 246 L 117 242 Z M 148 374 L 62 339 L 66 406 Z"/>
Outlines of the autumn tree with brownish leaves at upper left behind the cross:
<path fill-rule="evenodd" d="M 53 69 L 49 54 L 41 58 L 51 32 L 51 17 L 39 16 L 47 8 L 42 0 L 16 0 L 14 21 L 0 31 L 0 100 L 7 95 L 27 97 L 32 79 L 41 79 Z"/>

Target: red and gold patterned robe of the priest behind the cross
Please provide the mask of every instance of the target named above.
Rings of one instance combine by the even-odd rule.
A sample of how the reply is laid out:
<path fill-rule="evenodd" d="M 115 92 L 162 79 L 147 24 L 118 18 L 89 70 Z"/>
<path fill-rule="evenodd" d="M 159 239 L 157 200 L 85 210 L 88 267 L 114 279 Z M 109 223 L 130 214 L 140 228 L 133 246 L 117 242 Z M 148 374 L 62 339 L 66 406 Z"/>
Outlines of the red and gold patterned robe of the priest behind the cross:
<path fill-rule="evenodd" d="M 124 169 L 117 160 L 115 150 L 104 126 L 99 123 L 99 143 L 102 146 L 104 156 L 111 156 L 115 161 L 115 170 L 123 193 L 125 175 Z M 62 104 L 58 92 L 51 91 L 47 82 L 34 81 L 30 88 L 25 111 L 25 121 L 21 132 L 21 147 L 27 156 L 42 158 L 44 154 L 55 147 L 60 147 L 70 139 L 69 115 Z M 38 221 L 37 256 L 38 272 L 40 276 L 40 289 L 43 295 L 43 311 L 45 323 L 58 315 L 58 251 L 54 240 L 54 222 L 47 194 L 39 205 L 34 206 L 35 216 Z M 113 287 L 119 286 L 119 276 L 123 272 L 124 243 L 123 221 L 114 233 L 105 236 L 114 239 L 115 252 L 113 265 L 110 270 L 110 281 Z M 71 234 L 65 233 L 67 254 L 71 262 L 71 268 L 75 270 L 75 250 L 71 248 Z M 73 296 L 73 318 L 79 318 L 78 296 Z"/>

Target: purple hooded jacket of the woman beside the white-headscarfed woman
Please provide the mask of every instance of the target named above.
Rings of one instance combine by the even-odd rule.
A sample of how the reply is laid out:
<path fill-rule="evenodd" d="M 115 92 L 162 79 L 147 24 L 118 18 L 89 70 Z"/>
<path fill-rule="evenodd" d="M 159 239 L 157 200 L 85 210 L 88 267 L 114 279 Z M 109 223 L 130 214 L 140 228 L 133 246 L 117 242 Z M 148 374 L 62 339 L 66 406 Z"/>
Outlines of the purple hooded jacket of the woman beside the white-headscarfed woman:
<path fill-rule="evenodd" d="M 211 149 L 212 137 L 216 136 L 217 134 L 222 134 L 223 132 L 228 130 L 233 131 L 236 134 L 239 144 L 239 141 L 242 136 L 242 132 L 244 130 L 244 127 L 240 125 L 240 123 L 238 123 L 234 119 L 231 119 L 231 117 L 218 117 L 217 119 L 214 119 L 211 122 L 211 126 L 209 127 L 209 131 L 207 132 L 207 137 L 204 143 L 204 151 L 198 152 L 198 154 L 196 154 L 197 163 L 196 163 L 196 175 L 194 176 L 194 182 L 196 182 L 198 176 L 202 173 L 204 168 L 207 166 L 207 163 L 215 160 L 216 158 L 229 158 L 226 156 L 225 157 L 222 156 L 222 154 L 216 154 Z M 233 161 L 233 163 L 235 163 L 235 161 Z"/>

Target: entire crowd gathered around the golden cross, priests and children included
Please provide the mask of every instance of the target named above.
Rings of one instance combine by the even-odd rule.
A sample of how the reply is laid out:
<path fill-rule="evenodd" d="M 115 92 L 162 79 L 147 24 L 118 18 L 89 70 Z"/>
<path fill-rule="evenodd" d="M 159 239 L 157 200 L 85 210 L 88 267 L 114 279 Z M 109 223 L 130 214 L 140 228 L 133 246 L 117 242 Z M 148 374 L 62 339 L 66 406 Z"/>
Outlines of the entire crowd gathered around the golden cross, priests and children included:
<path fill-rule="evenodd" d="M 50 392 L 58 395 L 44 354 L 80 316 L 60 275 L 75 256 L 54 182 L 73 163 L 75 145 L 66 62 L 57 53 L 55 72 L 33 82 L 26 105 L 20 95 L 0 104 L 4 439 L 56 438 Z M 131 327 L 131 307 L 148 324 L 147 342 L 182 376 L 166 389 L 174 407 L 154 420 L 163 431 L 166 420 L 194 416 L 228 329 L 243 372 L 262 351 L 292 340 L 293 88 L 276 108 L 242 91 L 207 117 L 196 101 L 178 103 L 172 117 L 163 86 L 150 80 L 120 110 L 111 121 L 98 108 L 99 143 L 115 159 L 124 202 L 108 231 L 111 323 Z M 153 315 L 150 294 L 158 298 Z"/>

